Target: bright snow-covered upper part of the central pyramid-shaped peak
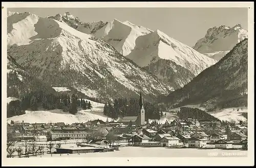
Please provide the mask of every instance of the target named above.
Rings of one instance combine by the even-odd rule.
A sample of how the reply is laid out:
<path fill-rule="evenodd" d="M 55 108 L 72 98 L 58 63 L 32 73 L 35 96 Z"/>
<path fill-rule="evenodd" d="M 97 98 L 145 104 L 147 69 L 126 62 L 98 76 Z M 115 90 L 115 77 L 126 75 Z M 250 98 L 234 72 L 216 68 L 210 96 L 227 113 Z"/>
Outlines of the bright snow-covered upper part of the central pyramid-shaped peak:
<path fill-rule="evenodd" d="M 170 38 L 160 30 L 138 37 L 134 50 L 127 57 L 141 67 L 149 66 L 161 59 L 170 60 L 189 69 L 195 75 L 216 63 L 215 60 Z"/>

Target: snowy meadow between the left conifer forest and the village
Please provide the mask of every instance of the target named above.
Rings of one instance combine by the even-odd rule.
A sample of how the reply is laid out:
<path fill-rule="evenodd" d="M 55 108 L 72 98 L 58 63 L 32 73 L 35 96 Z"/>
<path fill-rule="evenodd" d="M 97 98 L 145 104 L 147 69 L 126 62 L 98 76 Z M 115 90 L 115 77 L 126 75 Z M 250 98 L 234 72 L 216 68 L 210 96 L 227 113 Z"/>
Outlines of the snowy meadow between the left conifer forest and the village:
<path fill-rule="evenodd" d="M 89 120 L 102 120 L 106 121 L 108 117 L 103 115 L 104 104 L 93 102 L 91 100 L 87 100 L 91 102 L 92 109 L 87 110 L 79 110 L 76 115 L 72 115 L 69 112 L 63 112 L 60 109 L 54 110 L 38 110 L 38 111 L 28 111 L 26 110 L 26 114 L 20 116 L 13 116 L 7 119 L 7 122 L 10 123 L 11 120 L 15 121 L 24 121 L 28 123 L 49 123 L 49 122 L 64 122 L 65 124 L 72 123 L 81 123 L 87 122 Z M 111 118 L 108 118 L 111 121 Z"/>

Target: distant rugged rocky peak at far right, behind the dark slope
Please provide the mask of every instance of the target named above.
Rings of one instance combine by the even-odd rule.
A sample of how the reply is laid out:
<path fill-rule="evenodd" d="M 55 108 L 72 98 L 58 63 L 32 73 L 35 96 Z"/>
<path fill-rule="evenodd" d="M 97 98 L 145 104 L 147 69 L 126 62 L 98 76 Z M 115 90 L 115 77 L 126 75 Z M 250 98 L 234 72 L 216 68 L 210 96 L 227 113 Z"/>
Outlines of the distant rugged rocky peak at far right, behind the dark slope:
<path fill-rule="evenodd" d="M 248 32 L 243 29 L 241 24 L 233 27 L 215 26 L 208 29 L 205 37 L 198 40 L 193 48 L 219 61 L 234 45 L 245 38 L 248 38 Z"/>

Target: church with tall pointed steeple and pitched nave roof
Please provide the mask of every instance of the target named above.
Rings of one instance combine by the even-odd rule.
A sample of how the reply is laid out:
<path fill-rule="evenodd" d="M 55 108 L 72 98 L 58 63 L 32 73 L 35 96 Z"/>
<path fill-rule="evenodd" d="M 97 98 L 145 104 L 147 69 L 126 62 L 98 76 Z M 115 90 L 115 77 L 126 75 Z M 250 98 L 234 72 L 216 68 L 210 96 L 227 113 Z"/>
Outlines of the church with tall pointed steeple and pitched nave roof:
<path fill-rule="evenodd" d="M 145 109 L 143 106 L 143 99 L 142 99 L 142 90 L 140 90 L 140 100 L 139 100 L 139 113 L 138 116 L 125 116 L 120 119 L 118 122 L 123 124 L 129 125 L 132 122 L 133 125 L 136 126 L 143 126 L 145 124 Z"/>

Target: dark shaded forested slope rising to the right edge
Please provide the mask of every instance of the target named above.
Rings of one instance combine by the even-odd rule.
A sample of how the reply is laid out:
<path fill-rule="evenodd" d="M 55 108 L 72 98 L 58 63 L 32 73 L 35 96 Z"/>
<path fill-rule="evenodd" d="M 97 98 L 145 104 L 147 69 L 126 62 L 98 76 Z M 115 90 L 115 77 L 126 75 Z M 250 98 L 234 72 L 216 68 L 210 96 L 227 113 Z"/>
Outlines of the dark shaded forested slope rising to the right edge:
<path fill-rule="evenodd" d="M 201 104 L 207 108 L 247 105 L 248 40 L 244 39 L 218 63 L 205 69 L 162 102 L 175 106 Z"/>

